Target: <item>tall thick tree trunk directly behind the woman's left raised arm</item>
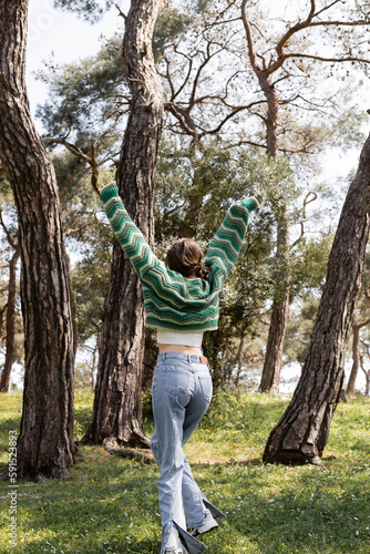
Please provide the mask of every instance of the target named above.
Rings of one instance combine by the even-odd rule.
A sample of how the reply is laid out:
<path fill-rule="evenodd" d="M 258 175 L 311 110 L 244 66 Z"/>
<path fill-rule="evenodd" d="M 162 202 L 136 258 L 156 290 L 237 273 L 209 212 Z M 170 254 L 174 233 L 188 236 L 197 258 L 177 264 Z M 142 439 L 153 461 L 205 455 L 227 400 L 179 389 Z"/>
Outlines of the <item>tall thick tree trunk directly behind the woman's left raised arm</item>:
<path fill-rule="evenodd" d="M 148 243 L 154 237 L 154 173 L 163 121 L 163 90 L 152 53 L 155 21 L 168 0 L 133 0 L 123 40 L 124 69 L 132 92 L 116 181 L 120 195 Z M 84 441 L 114 438 L 148 447 L 142 428 L 144 305 L 141 285 L 119 242 L 104 304 L 102 346 L 93 420 Z"/>

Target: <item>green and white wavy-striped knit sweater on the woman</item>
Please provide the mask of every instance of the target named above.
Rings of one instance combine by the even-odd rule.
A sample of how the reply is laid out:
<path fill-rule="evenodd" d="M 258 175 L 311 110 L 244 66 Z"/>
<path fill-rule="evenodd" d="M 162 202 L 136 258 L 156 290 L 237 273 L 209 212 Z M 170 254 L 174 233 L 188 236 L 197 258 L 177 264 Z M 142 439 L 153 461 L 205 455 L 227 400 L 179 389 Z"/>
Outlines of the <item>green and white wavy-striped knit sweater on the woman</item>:
<path fill-rule="evenodd" d="M 213 238 L 204 267 L 208 280 L 183 277 L 167 269 L 130 218 L 115 183 L 101 192 L 104 209 L 120 244 L 143 285 L 146 327 L 163 331 L 199 332 L 217 329 L 219 293 L 239 255 L 255 198 L 243 198 L 227 212 Z"/>

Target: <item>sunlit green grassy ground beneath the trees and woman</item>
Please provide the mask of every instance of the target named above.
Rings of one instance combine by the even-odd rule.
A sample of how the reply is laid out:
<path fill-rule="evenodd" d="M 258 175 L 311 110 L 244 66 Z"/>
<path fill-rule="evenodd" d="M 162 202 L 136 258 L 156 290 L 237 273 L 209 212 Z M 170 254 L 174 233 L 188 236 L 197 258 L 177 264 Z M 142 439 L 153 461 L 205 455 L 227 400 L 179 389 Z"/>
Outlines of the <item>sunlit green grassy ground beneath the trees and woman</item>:
<path fill-rule="evenodd" d="M 269 430 L 287 401 L 261 394 L 220 393 L 186 445 L 194 475 L 227 513 L 204 535 L 209 554 L 369 554 L 370 399 L 340 404 L 326 470 L 264 465 Z M 76 435 L 86 429 L 92 394 L 75 398 Z M 0 396 L 0 466 L 9 431 L 19 430 L 21 394 Z M 150 435 L 153 423 L 145 421 Z M 0 552 L 160 553 L 156 465 L 83 447 L 72 479 L 19 480 L 18 546 L 9 541 L 9 484 L 0 483 Z"/>

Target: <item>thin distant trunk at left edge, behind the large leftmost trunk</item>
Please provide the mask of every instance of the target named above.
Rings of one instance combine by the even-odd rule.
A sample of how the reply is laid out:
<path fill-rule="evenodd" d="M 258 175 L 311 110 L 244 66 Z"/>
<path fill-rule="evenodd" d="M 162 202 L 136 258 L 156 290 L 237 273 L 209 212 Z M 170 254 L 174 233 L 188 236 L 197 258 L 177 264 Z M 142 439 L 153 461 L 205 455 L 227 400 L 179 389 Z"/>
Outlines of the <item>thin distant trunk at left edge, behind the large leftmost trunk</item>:
<path fill-rule="evenodd" d="M 16 338 L 16 296 L 17 296 L 17 263 L 19 259 L 19 247 L 14 252 L 9 266 L 8 305 L 7 305 L 7 355 L 6 363 L 1 375 L 0 392 L 8 392 L 11 368 L 14 358 Z"/>

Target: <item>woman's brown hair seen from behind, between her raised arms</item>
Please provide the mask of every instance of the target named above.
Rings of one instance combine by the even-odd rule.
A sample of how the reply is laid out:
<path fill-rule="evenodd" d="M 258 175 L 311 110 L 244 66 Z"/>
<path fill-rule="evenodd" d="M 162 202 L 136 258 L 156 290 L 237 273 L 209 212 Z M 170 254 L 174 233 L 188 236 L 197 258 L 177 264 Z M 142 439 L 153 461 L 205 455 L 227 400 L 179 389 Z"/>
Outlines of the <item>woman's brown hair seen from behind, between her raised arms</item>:
<path fill-rule="evenodd" d="M 202 267 L 202 250 L 193 238 L 181 238 L 167 250 L 165 263 L 173 271 L 178 271 L 184 277 L 196 275 L 201 279 L 208 276 L 207 269 Z"/>

